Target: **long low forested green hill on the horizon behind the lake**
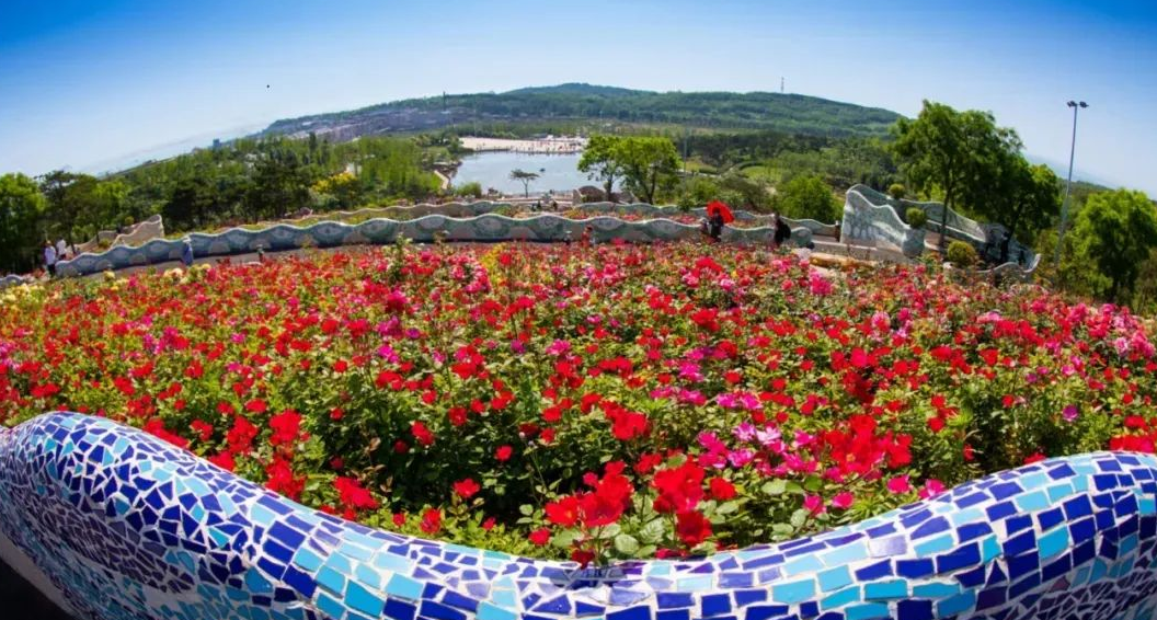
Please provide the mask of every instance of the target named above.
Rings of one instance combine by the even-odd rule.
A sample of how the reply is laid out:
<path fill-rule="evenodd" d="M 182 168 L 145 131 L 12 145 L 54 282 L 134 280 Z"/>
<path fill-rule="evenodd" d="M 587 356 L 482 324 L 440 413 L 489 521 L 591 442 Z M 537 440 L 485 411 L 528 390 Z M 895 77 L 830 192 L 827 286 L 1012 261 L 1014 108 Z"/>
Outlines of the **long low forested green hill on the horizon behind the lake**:
<path fill-rule="evenodd" d="M 359 110 L 278 120 L 266 134 L 314 132 L 344 141 L 360 135 L 429 131 L 459 124 L 589 120 L 772 130 L 791 134 L 883 135 L 899 115 L 805 95 L 779 93 L 654 93 L 584 83 L 508 93 L 442 95 Z"/>

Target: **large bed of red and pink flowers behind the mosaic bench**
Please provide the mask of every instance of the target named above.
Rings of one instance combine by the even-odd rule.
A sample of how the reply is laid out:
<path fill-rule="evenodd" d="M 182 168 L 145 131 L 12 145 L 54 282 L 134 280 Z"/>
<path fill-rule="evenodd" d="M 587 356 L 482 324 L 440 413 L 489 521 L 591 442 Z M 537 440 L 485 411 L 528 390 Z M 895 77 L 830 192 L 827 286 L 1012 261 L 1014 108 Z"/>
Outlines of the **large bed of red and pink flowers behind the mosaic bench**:
<path fill-rule="evenodd" d="M 577 561 L 1155 450 L 1127 310 L 723 245 L 316 253 L 0 291 L 0 420 L 104 415 L 386 530 Z"/>

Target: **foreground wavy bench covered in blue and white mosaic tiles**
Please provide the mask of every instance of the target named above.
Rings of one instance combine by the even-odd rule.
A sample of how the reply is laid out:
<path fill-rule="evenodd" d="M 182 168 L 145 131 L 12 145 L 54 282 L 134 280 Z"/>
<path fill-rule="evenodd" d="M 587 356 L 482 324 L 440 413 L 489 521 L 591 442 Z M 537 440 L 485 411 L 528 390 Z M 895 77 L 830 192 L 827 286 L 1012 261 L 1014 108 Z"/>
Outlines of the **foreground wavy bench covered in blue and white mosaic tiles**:
<path fill-rule="evenodd" d="M 1142 619 L 1157 458 L 1053 459 L 867 522 L 578 570 L 309 510 L 140 430 L 0 431 L 0 555 L 80 618 Z"/>

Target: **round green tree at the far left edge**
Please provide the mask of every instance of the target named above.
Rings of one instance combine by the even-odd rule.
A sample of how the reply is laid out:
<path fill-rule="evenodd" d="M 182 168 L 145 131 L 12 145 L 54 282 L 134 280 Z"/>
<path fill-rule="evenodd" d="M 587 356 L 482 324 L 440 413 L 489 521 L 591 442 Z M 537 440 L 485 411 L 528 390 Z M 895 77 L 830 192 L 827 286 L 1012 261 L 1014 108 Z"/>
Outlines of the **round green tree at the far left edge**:
<path fill-rule="evenodd" d="M 20 272 L 36 265 L 45 204 L 35 180 L 19 174 L 0 177 L 0 270 Z"/>

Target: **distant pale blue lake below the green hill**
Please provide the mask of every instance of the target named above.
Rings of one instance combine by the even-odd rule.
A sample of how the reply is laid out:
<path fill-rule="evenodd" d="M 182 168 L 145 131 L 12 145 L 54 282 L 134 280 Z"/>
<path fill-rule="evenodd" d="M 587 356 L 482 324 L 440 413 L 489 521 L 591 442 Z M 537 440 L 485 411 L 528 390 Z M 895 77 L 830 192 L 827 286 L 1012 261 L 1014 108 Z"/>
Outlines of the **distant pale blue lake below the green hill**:
<path fill-rule="evenodd" d="M 495 150 L 479 153 L 462 158 L 462 165 L 454 176 L 455 185 L 463 185 L 477 180 L 482 185 L 482 191 L 494 187 L 503 193 L 522 194 L 522 183 L 510 180 L 510 171 L 522 169 L 526 172 L 537 172 L 539 177 L 530 184 L 530 195 L 545 193 L 547 190 L 554 192 L 569 192 L 583 185 L 597 185 L 587 178 L 587 175 L 578 171 L 578 158 L 581 153 L 567 155 L 544 155 L 537 153 L 514 153 L 509 150 Z"/>

